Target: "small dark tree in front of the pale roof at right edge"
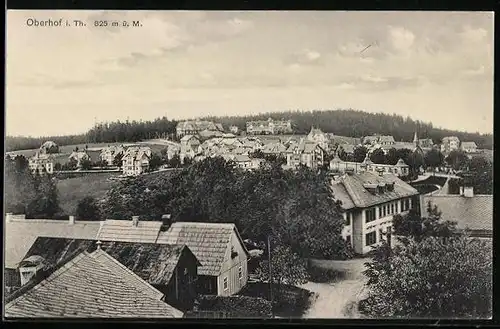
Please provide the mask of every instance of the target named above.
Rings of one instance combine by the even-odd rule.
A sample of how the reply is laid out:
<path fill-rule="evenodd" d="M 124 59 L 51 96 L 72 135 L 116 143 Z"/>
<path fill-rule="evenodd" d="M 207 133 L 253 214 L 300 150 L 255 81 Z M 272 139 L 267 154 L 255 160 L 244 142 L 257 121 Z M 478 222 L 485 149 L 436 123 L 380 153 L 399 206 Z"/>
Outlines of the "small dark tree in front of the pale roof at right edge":
<path fill-rule="evenodd" d="M 457 223 L 443 221 L 441 212 L 431 202 L 427 204 L 426 217 L 419 216 L 415 209 L 411 209 L 407 215 L 395 215 L 393 227 L 396 236 L 412 237 L 416 241 L 428 236 L 451 237 L 458 234 Z"/>

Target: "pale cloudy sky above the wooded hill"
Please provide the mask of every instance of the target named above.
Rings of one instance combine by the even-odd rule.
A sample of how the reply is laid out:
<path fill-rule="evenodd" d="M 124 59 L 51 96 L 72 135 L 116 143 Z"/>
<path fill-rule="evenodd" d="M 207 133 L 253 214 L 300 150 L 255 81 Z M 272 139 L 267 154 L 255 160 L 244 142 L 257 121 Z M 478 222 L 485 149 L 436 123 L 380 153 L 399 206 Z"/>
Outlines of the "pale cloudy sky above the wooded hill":
<path fill-rule="evenodd" d="M 29 18 L 87 25 L 34 27 Z M 142 26 L 94 26 L 102 20 Z M 492 133 L 493 20 L 492 12 L 9 10 L 6 133 L 337 108 Z"/>

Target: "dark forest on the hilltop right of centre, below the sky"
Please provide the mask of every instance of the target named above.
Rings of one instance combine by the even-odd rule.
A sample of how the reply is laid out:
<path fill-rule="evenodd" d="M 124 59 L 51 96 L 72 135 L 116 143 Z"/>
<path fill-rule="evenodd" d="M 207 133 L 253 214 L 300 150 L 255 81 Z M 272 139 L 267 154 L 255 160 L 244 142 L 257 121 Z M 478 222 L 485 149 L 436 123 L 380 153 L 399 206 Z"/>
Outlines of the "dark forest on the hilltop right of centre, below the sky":
<path fill-rule="evenodd" d="M 435 143 L 443 137 L 457 136 L 461 141 L 476 142 L 479 148 L 493 149 L 493 135 L 460 132 L 433 127 L 432 123 L 413 120 L 396 114 L 368 113 L 359 110 L 288 111 L 246 116 L 206 117 L 224 127 L 235 125 L 246 130 L 246 122 L 254 120 L 292 120 L 297 134 L 306 134 L 315 126 L 324 132 L 349 137 L 364 137 L 374 133 L 392 135 L 396 141 L 412 141 L 415 131 L 420 138 L 432 138 Z"/>

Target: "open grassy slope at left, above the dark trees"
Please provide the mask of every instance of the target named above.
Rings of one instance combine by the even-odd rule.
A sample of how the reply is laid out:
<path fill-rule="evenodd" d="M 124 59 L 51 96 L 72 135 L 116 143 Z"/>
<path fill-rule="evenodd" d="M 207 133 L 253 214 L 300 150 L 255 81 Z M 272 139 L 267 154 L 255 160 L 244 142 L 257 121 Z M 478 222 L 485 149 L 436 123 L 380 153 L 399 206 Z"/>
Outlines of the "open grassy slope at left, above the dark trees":
<path fill-rule="evenodd" d="M 106 191 L 116 184 L 107 178 L 115 173 L 93 173 L 81 177 L 66 178 L 57 181 L 59 206 L 66 215 L 74 215 L 78 201 L 86 196 L 96 199 L 104 197 Z"/>

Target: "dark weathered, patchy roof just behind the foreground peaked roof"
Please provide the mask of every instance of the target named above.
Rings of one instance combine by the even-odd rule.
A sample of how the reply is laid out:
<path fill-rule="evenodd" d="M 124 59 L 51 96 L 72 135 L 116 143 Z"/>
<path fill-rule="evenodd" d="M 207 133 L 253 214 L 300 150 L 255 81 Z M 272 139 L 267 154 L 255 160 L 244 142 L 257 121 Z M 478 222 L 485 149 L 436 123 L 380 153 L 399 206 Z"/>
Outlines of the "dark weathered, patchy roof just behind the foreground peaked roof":
<path fill-rule="evenodd" d="M 25 258 L 38 255 L 47 263 L 56 265 L 75 251 L 94 251 L 97 247 L 96 242 L 96 240 L 38 238 Z M 184 249 L 187 249 L 184 252 L 191 254 L 191 251 L 183 245 L 154 243 L 102 242 L 101 249 L 142 279 L 157 285 L 167 285 L 170 282 Z M 197 262 L 196 257 L 192 254 L 191 256 Z"/>

